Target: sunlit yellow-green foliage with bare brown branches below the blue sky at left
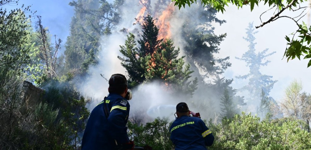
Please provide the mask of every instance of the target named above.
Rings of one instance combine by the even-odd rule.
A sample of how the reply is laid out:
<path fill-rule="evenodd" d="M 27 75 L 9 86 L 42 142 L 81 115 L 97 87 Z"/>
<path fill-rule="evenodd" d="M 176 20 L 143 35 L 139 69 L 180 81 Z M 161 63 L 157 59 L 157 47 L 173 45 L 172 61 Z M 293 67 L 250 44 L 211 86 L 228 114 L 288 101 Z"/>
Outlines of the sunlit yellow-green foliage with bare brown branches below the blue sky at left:
<path fill-rule="evenodd" d="M 29 49 L 30 56 L 29 64 L 24 66 L 24 74 L 27 80 L 39 85 L 43 80 L 57 77 L 58 67 L 62 61 L 58 58 L 62 40 L 57 39 L 54 35 L 55 42 L 51 42 L 49 30 L 43 27 L 39 16 L 35 29 L 35 32 L 32 31 L 32 28 L 29 29 L 28 41 L 23 44 L 23 47 Z"/>

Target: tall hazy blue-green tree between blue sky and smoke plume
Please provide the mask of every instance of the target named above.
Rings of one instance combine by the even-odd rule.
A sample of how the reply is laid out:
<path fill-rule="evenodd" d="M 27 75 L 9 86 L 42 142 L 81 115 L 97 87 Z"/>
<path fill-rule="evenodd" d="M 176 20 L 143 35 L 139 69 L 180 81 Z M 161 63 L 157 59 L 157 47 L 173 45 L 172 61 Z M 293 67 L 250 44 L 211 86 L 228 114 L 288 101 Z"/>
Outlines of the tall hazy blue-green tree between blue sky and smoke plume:
<path fill-rule="evenodd" d="M 96 64 L 95 56 L 101 49 L 100 37 L 110 34 L 118 24 L 123 0 L 109 3 L 106 0 L 78 0 L 69 3 L 75 15 L 67 37 L 65 67 L 67 70 L 81 69 L 86 73 L 88 66 Z"/>

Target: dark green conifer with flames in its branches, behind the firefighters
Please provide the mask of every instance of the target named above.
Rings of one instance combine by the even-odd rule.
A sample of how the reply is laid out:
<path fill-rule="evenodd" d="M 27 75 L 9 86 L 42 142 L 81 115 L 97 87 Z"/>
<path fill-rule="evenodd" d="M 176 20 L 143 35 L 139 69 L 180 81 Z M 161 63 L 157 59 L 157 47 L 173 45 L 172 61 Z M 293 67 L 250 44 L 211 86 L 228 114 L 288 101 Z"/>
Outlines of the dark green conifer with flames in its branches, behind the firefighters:
<path fill-rule="evenodd" d="M 128 71 L 129 85 L 134 87 L 139 83 L 159 80 L 169 88 L 193 94 L 197 89 L 197 78 L 188 81 L 193 71 L 189 64 L 185 65 L 184 56 L 177 59 L 179 48 L 176 50 L 170 39 L 158 39 L 159 29 L 151 15 L 144 17 L 140 25 L 142 38 L 137 41 L 140 47 L 136 47 L 135 36 L 130 33 L 125 46 L 120 46 L 124 57 L 118 56 Z"/>

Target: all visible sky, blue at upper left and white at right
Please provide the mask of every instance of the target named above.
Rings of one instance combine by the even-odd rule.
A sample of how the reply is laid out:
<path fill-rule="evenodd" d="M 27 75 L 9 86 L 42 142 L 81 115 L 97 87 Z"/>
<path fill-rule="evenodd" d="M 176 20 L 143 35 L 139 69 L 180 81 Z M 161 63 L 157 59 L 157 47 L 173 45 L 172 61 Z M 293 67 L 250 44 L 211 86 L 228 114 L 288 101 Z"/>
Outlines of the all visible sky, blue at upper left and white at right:
<path fill-rule="evenodd" d="M 21 0 L 20 4 L 32 5 L 32 10 L 37 11 L 36 15 L 42 16 L 44 26 L 49 28 L 52 35 L 58 35 L 64 44 L 69 35 L 70 21 L 74 14 L 73 7 L 68 5 L 69 2 L 71 0 Z M 7 6 L 7 8 L 9 9 L 10 6 Z M 248 27 L 249 22 L 259 25 L 260 14 L 268 8 L 262 5 L 260 5 L 260 8 L 255 6 L 253 12 L 250 12 L 249 7 L 238 10 L 237 7 L 230 6 L 225 9 L 224 14 L 218 13 L 217 17 L 226 20 L 227 23 L 215 26 L 216 34 L 227 33 L 227 38 L 221 43 L 220 54 L 217 56 L 230 56 L 232 67 L 227 69 L 224 76 L 233 78 L 234 82 L 231 86 L 239 88 L 243 86 L 240 84 L 243 82 L 236 80 L 235 76 L 245 75 L 249 71 L 245 66 L 245 62 L 235 59 L 235 57 L 241 57 L 248 50 L 248 42 L 243 39 L 243 37 L 246 37 L 245 29 Z M 264 15 L 263 21 L 268 20 L 272 13 Z M 307 22 L 307 17 L 303 18 L 303 20 Z M 309 85 L 311 83 L 311 67 L 307 68 L 308 60 L 299 61 L 295 59 L 290 60 L 288 63 L 286 59 L 282 60 L 286 47 L 284 37 L 294 32 L 295 29 L 296 26 L 293 21 L 279 19 L 255 30 L 258 31 L 255 35 L 256 50 L 262 51 L 268 48 L 267 53 L 276 51 L 275 54 L 267 58 L 271 60 L 271 63 L 261 69 L 263 74 L 273 76 L 273 80 L 278 80 L 270 92 L 270 96 L 276 100 L 281 99 L 285 87 L 295 78 L 304 83 L 304 91 L 311 93 L 311 86 Z M 64 46 L 62 50 L 64 50 Z"/>

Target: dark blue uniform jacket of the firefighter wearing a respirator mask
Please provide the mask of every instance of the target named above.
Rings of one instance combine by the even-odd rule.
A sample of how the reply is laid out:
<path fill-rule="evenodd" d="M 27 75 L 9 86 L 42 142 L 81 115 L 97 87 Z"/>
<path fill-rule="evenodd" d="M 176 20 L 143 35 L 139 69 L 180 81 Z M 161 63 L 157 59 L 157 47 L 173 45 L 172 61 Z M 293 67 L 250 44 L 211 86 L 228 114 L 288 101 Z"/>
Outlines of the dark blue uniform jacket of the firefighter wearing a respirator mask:
<path fill-rule="evenodd" d="M 105 115 L 105 105 L 109 117 Z M 91 112 L 82 138 L 82 150 L 113 150 L 115 143 L 128 143 L 126 123 L 130 104 L 118 94 L 109 94 Z"/>

